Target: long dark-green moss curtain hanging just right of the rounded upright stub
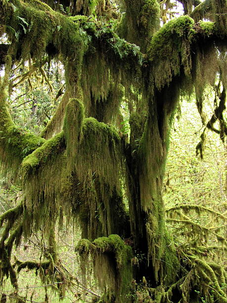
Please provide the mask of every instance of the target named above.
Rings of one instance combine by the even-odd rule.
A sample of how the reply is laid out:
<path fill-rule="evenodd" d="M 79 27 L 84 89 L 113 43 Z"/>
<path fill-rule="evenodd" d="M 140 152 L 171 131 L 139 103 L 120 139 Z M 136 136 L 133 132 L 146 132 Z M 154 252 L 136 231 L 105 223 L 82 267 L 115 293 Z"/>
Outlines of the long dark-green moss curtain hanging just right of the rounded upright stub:
<path fill-rule="evenodd" d="M 71 146 L 70 146 L 71 147 Z M 90 239 L 115 232 L 126 234 L 128 218 L 121 194 L 124 170 L 123 145 L 116 130 L 94 118 L 84 119 L 82 136 L 68 158 L 74 171 L 80 194 L 79 219 Z M 118 225 L 115 224 L 116 213 Z"/>

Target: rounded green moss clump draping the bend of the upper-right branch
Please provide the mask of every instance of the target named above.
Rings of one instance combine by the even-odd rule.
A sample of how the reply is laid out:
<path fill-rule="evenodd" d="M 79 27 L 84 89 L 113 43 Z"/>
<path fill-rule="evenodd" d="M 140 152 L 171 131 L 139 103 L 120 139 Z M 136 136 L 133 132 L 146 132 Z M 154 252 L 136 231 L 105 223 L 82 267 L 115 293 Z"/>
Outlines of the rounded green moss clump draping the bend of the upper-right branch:
<path fill-rule="evenodd" d="M 184 73 L 190 75 L 188 33 L 193 25 L 192 18 L 182 16 L 166 23 L 152 38 L 148 56 L 153 63 L 152 75 L 158 89 L 169 84 L 174 76 L 180 75 L 181 65 Z"/>

